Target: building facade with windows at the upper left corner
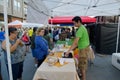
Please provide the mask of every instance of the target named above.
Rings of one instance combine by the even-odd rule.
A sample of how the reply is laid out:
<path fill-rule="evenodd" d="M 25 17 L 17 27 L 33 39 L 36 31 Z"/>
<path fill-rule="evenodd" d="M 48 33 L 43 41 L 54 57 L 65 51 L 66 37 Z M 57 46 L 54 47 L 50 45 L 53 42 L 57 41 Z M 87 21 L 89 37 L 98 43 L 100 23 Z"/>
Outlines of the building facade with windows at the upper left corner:
<path fill-rule="evenodd" d="M 24 0 L 7 0 L 8 22 L 23 21 L 25 18 Z M 0 21 L 4 21 L 4 0 L 0 0 Z"/>

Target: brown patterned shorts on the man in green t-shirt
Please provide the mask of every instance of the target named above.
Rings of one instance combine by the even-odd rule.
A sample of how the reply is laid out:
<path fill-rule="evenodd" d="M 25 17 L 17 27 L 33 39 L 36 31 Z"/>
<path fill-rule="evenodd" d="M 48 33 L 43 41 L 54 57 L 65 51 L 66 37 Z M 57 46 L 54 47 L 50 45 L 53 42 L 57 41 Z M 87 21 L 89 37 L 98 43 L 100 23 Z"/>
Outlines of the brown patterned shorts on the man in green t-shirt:
<path fill-rule="evenodd" d="M 87 53 L 89 52 L 89 46 L 84 48 L 84 49 L 80 49 L 79 50 L 79 57 L 78 57 L 78 68 L 81 70 L 87 70 L 87 66 L 88 66 L 88 57 L 87 57 Z"/>

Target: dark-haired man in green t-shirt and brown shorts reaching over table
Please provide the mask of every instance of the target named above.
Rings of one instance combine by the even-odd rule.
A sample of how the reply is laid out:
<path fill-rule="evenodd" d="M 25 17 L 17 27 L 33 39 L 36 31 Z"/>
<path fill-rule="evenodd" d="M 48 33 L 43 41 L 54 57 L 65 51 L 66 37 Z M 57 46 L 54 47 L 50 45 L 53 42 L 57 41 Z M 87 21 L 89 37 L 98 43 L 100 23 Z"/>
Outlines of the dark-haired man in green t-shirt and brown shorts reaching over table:
<path fill-rule="evenodd" d="M 78 68 L 80 69 L 80 72 L 82 74 L 82 80 L 86 80 L 87 53 L 90 51 L 89 36 L 87 29 L 82 25 L 82 20 L 79 16 L 74 17 L 72 21 L 75 27 L 78 27 L 78 30 L 76 32 L 76 38 L 70 49 L 66 52 L 65 56 L 68 56 L 69 52 L 78 46 Z"/>

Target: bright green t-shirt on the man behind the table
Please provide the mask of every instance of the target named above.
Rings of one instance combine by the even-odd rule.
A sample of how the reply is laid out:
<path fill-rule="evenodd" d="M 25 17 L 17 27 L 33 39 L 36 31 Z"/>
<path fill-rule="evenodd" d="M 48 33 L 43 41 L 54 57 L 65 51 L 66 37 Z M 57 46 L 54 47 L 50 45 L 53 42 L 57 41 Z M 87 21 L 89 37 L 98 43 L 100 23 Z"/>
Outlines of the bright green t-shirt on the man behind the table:
<path fill-rule="evenodd" d="M 78 41 L 79 49 L 84 49 L 90 44 L 87 29 L 83 25 L 78 28 L 76 37 L 80 38 Z"/>

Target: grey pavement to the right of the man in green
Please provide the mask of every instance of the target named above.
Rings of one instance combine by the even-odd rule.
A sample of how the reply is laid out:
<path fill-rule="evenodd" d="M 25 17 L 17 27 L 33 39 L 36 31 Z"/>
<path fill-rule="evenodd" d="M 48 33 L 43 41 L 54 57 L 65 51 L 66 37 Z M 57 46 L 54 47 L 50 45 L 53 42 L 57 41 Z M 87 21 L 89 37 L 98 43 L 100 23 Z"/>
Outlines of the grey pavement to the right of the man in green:
<path fill-rule="evenodd" d="M 88 65 L 87 80 L 120 80 L 120 70 L 111 64 L 111 55 L 96 54 L 94 65 Z"/>

